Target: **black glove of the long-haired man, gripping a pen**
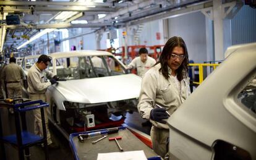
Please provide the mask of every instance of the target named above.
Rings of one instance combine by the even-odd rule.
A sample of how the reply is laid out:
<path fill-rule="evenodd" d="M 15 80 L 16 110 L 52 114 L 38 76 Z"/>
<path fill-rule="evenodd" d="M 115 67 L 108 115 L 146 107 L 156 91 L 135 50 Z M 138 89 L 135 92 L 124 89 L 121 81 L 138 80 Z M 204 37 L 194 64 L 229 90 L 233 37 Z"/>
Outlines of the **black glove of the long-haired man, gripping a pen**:
<path fill-rule="evenodd" d="M 166 113 L 166 109 L 155 107 L 150 112 L 150 119 L 155 120 L 156 122 L 160 122 L 161 124 L 166 124 L 166 121 L 162 119 L 168 119 L 168 114 Z"/>

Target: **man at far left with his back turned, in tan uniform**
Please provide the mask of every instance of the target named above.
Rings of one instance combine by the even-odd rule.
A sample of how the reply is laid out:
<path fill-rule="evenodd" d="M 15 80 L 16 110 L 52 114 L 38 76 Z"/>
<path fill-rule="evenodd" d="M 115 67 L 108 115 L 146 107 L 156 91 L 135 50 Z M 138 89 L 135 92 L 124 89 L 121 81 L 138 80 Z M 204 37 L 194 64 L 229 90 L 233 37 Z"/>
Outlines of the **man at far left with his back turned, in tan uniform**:
<path fill-rule="evenodd" d="M 25 79 L 22 68 L 16 64 L 15 57 L 10 57 L 9 64 L 2 69 L 1 79 L 6 83 L 7 98 L 22 97 L 21 79 Z M 13 109 L 9 111 L 13 113 Z"/>

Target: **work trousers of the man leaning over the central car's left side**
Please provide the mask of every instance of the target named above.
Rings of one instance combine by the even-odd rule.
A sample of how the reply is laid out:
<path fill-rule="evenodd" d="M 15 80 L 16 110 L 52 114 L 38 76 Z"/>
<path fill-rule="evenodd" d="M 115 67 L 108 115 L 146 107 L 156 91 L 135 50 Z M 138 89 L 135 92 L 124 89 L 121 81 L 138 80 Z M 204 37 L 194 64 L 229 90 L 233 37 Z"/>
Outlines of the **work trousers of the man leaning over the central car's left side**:
<path fill-rule="evenodd" d="M 32 101 L 42 100 L 45 102 L 46 96 L 45 96 L 45 93 L 29 94 L 29 99 L 31 99 Z M 46 111 L 46 107 L 44 107 L 44 112 L 45 112 L 45 126 L 46 126 L 47 143 L 48 143 L 48 145 L 50 145 L 51 143 L 53 143 L 53 141 L 51 141 L 51 135 L 49 133 L 48 114 Z M 43 137 L 43 125 L 42 125 L 42 120 L 41 120 L 41 111 L 40 111 L 40 109 L 34 109 L 33 113 L 35 116 L 35 134 L 39 135 L 40 137 Z"/>

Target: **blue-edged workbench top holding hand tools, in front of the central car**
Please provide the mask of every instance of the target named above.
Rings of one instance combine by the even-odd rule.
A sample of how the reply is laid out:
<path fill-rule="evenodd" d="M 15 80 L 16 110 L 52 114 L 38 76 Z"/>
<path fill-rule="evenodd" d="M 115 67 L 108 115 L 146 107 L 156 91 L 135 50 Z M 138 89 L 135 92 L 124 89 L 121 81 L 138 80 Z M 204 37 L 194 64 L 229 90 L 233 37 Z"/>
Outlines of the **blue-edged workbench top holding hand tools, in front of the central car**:
<path fill-rule="evenodd" d="M 83 133 L 93 133 L 102 130 L 95 130 L 91 132 L 80 132 L 72 133 L 69 137 L 70 147 L 74 154 L 76 160 L 94 160 L 97 159 L 98 153 L 113 153 L 119 152 L 119 148 L 116 145 L 116 142 L 109 141 L 108 138 L 121 136 L 121 140 L 117 140 L 119 145 L 124 149 L 124 151 L 139 151 L 143 150 L 147 158 L 156 157 L 157 154 L 153 152 L 151 148 L 142 143 L 139 138 L 130 132 L 126 127 L 118 127 L 119 132 L 111 133 L 108 137 L 104 138 L 101 141 L 98 141 L 95 144 L 92 144 L 92 141 L 98 140 L 103 137 L 103 135 L 96 135 L 93 137 L 84 138 L 84 142 L 80 142 L 78 135 Z M 104 129 L 103 129 L 104 130 Z"/>

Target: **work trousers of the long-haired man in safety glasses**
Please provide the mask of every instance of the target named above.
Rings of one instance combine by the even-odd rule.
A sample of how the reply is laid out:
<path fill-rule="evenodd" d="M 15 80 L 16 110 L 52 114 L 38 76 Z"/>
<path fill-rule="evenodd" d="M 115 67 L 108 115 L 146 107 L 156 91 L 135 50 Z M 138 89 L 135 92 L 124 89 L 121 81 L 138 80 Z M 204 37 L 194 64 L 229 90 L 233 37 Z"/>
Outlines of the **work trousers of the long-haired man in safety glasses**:
<path fill-rule="evenodd" d="M 153 151 L 155 151 L 156 154 L 164 158 L 164 156 L 168 153 L 169 130 L 164 128 L 158 128 L 152 125 L 150 137 L 153 144 Z"/>

